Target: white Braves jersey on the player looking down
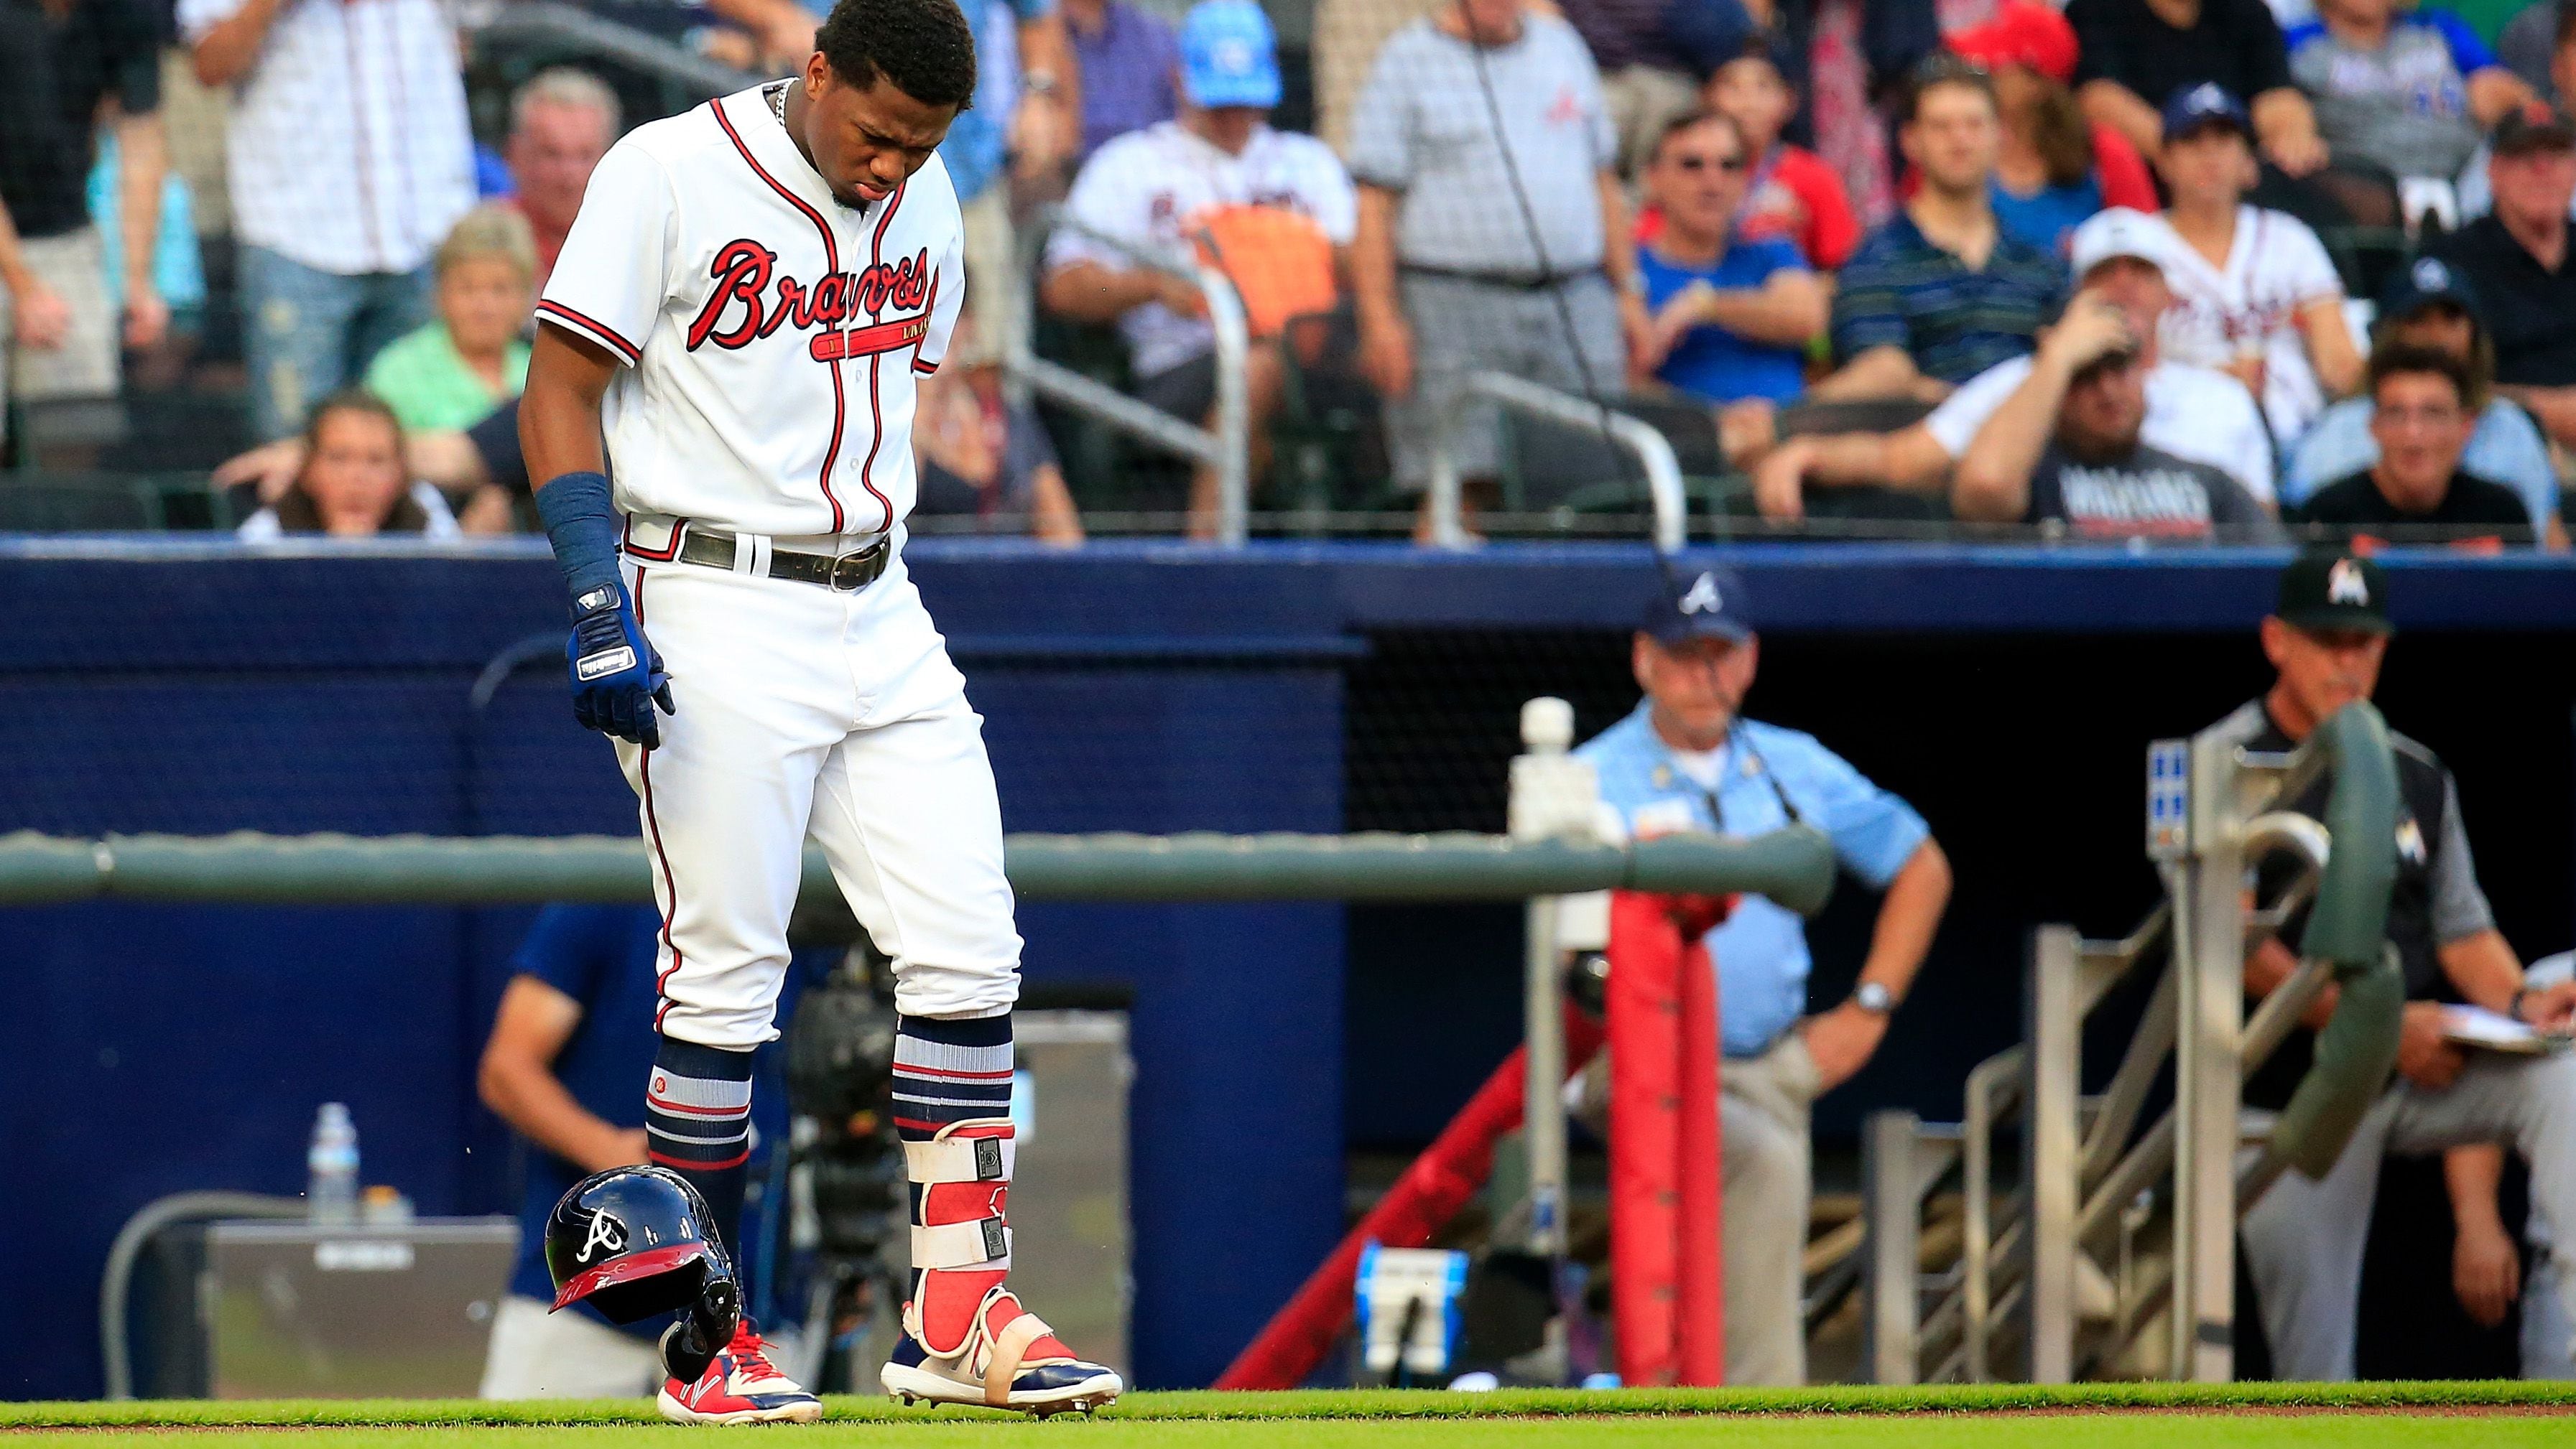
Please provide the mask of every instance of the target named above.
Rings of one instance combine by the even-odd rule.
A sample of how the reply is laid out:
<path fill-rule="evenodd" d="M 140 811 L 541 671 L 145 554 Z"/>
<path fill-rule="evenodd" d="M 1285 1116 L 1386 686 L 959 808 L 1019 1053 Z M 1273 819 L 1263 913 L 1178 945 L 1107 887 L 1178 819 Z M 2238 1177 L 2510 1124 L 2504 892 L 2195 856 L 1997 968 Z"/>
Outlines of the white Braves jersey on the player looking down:
<path fill-rule="evenodd" d="M 626 363 L 603 404 L 623 512 L 884 533 L 912 510 L 912 383 L 948 350 L 961 247 L 938 157 L 842 206 L 755 88 L 600 157 L 536 314 Z"/>

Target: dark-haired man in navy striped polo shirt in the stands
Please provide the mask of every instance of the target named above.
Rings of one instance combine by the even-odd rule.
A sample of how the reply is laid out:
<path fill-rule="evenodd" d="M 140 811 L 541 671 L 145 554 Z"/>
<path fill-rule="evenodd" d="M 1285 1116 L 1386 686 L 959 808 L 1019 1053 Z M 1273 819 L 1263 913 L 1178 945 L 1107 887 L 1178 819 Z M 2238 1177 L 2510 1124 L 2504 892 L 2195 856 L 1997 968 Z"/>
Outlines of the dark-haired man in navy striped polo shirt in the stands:
<path fill-rule="evenodd" d="M 2058 257 L 1994 216 L 2002 124 L 1986 72 L 1950 54 L 1917 67 L 1899 147 L 1922 188 L 1842 268 L 1839 371 L 1816 383 L 1821 399 L 1947 396 L 2030 353 L 2032 332 L 2066 299 Z"/>

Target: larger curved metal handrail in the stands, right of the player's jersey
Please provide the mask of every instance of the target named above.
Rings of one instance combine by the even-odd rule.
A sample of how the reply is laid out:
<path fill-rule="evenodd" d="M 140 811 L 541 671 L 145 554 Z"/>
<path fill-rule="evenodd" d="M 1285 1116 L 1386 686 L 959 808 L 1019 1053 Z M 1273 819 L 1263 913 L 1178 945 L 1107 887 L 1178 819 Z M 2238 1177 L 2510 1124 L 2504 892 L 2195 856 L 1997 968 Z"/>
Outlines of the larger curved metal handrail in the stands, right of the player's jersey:
<path fill-rule="evenodd" d="M 1216 427 L 1198 427 L 1061 363 L 1048 363 L 1030 350 L 1030 329 L 1025 327 L 1005 350 L 1002 373 L 1128 438 L 1216 468 L 1216 543 L 1221 548 L 1242 548 L 1252 533 L 1252 391 L 1247 383 L 1252 327 L 1244 322 L 1244 299 L 1236 296 L 1226 273 L 1198 265 L 1185 255 L 1139 245 L 1131 237 L 1110 237 L 1108 232 L 1084 226 L 1066 216 L 1061 206 L 1041 208 L 1020 226 L 1018 286 L 1033 291 L 1038 257 L 1059 226 L 1079 234 L 1084 242 L 1118 252 L 1144 270 L 1182 278 L 1208 299 L 1208 327 L 1216 329 Z"/>

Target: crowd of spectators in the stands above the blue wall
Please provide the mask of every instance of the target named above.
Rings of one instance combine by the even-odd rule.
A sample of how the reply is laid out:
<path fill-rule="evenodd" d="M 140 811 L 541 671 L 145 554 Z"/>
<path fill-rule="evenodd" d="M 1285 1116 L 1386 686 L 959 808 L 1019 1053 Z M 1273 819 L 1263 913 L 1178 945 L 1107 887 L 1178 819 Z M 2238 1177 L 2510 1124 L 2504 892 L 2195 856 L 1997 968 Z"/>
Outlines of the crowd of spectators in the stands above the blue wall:
<path fill-rule="evenodd" d="M 755 67 L 817 21 L 670 10 Z M 969 10 L 979 98 L 940 154 L 971 340 L 920 440 L 948 525 L 1074 543 L 1144 499 L 1216 528 L 1213 468 L 1103 492 L 1154 461 L 1002 386 L 1036 347 L 1213 427 L 1175 270 L 1203 263 L 1252 332 L 1255 507 L 1414 507 L 1458 407 L 1471 520 L 1600 507 L 1577 484 L 1605 476 L 1638 507 L 1633 468 L 1551 463 L 1463 399 L 1504 371 L 1646 417 L 1713 507 L 1780 522 L 2566 546 L 2553 0 L 1316 0 L 1280 8 L 1288 64 L 1255 0 Z M 634 116 L 546 67 L 477 144 L 471 39 L 440 0 L 0 8 L 18 463 L 155 468 L 131 394 L 216 378 L 258 443 L 214 471 L 242 517 L 363 386 L 443 497 L 428 528 L 520 525 L 528 296 Z"/>

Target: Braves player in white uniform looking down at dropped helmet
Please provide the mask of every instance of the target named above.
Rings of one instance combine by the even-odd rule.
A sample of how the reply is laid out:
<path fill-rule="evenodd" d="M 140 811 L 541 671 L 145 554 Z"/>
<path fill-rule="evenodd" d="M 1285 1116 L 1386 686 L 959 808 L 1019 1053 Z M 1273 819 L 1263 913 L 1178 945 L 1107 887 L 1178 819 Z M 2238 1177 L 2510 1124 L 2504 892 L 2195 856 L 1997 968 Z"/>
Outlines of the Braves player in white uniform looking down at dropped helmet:
<path fill-rule="evenodd" d="M 981 718 L 902 561 L 914 376 L 963 288 L 933 149 L 974 39 L 953 0 L 840 0 L 814 46 L 600 160 L 520 404 L 572 708 L 618 739 L 662 909 L 647 1145 L 732 1241 L 811 836 L 899 983 L 914 1277 L 884 1385 L 1097 1408 L 1118 1374 L 1002 1282 L 1020 934 Z M 665 1346 L 667 1418 L 822 1413 L 747 1320 L 683 1377 L 696 1356 Z"/>

